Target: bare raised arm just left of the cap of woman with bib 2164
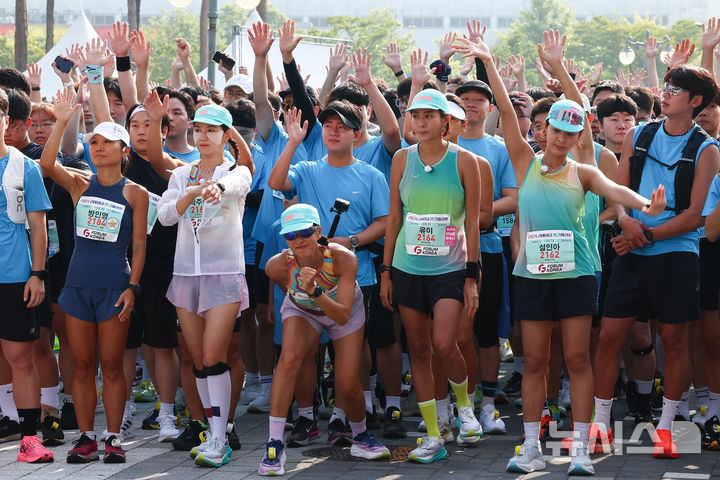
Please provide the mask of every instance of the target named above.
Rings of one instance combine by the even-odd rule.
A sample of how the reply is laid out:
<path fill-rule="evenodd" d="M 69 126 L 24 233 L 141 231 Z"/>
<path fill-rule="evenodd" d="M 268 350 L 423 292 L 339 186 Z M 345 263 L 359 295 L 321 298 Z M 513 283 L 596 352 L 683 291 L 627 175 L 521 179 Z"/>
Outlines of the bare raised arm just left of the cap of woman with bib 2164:
<path fill-rule="evenodd" d="M 367 91 L 370 96 L 370 104 L 375 112 L 382 130 L 383 145 L 390 155 L 393 155 L 400 148 L 400 127 L 398 126 L 395 114 L 387 103 L 385 97 L 377 88 L 370 75 L 370 60 L 372 55 L 367 50 L 358 49 L 353 54 L 353 65 L 355 74 L 348 76 L 348 80 L 357 83 Z"/>

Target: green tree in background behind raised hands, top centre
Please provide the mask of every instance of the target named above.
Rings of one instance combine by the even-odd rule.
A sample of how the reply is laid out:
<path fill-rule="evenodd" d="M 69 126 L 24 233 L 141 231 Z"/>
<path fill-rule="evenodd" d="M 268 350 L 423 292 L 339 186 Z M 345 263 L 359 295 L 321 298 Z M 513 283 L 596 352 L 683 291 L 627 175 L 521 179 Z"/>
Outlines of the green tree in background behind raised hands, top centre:
<path fill-rule="evenodd" d="M 395 42 L 400 47 L 400 51 L 409 56 L 410 51 L 415 47 L 412 34 L 400 34 L 402 25 L 389 7 L 373 10 L 364 17 L 332 16 L 328 17 L 326 22 L 330 26 L 329 29 L 312 27 L 303 33 L 319 37 L 343 38 L 349 40 L 356 49 L 367 48 L 372 53 L 370 65 L 372 74 L 384 78 L 390 85 L 395 83 L 395 76 L 382 61 L 385 48 L 390 42 Z M 407 66 L 409 70 L 409 63 Z"/>

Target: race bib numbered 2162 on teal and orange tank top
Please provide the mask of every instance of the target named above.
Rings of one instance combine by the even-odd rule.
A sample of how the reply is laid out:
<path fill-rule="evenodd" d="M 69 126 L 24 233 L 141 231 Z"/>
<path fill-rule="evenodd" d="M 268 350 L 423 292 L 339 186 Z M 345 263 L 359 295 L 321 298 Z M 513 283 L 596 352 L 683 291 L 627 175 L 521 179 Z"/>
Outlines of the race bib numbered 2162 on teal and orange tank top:
<path fill-rule="evenodd" d="M 575 270 L 575 238 L 569 230 L 528 232 L 525 238 L 528 272 L 536 275 Z"/>

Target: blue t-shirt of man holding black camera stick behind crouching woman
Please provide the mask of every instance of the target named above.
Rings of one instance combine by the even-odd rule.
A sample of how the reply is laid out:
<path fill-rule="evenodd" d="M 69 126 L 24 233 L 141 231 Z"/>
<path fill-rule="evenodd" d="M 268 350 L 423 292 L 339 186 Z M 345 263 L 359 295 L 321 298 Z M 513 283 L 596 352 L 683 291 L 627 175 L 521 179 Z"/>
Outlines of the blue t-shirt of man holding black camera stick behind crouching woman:
<path fill-rule="evenodd" d="M 335 214 L 330 212 L 336 198 L 350 202 L 348 211 L 338 223 L 336 237 L 349 237 L 365 230 L 378 217 L 388 215 L 390 188 L 382 172 L 372 165 L 355 160 L 347 167 L 333 167 L 327 157 L 317 162 L 300 162 L 290 167 L 288 180 L 292 188 L 284 192 L 287 198 L 298 196 L 298 201 L 315 206 L 320 213 L 320 224 L 328 234 Z M 361 287 L 374 285 L 375 268 L 370 252 L 357 252 L 357 281 Z"/>

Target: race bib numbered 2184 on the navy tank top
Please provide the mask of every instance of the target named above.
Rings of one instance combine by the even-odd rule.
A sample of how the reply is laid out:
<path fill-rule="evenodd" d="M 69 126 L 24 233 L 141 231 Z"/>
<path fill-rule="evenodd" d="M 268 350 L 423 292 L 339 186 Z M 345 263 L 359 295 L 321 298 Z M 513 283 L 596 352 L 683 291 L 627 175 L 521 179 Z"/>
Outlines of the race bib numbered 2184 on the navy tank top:
<path fill-rule="evenodd" d="M 98 197 L 80 197 L 75 207 L 75 232 L 78 237 L 116 242 L 125 205 Z"/>

